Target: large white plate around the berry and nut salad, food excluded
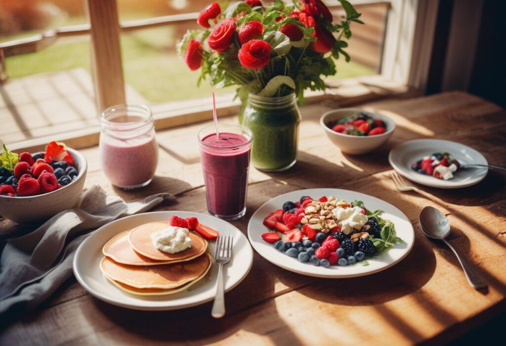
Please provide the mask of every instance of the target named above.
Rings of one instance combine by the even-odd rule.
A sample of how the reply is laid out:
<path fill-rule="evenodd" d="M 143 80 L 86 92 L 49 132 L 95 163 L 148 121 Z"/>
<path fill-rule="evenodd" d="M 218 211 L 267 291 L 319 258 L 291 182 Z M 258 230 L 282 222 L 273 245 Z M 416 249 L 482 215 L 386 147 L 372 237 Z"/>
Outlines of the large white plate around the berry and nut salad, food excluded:
<path fill-rule="evenodd" d="M 320 198 L 321 196 L 335 196 L 338 200 L 346 200 L 352 202 L 358 200 L 364 202 L 364 206 L 368 210 L 381 209 L 384 211 L 383 218 L 391 220 L 395 224 L 397 236 L 401 237 L 406 243 L 394 245 L 389 251 L 382 255 L 369 258 L 368 266 L 360 263 L 352 266 L 341 267 L 337 265 L 329 268 L 316 267 L 311 262 L 302 263 L 298 259 L 288 257 L 274 249 L 272 244 L 262 239 L 262 234 L 269 231 L 269 228 L 263 225 L 264 219 L 277 209 L 281 209 L 283 203 L 287 201 L 299 201 L 303 196 L 311 196 Z M 307 190 L 299 190 L 288 192 L 277 196 L 260 207 L 251 217 L 248 224 L 248 238 L 253 248 L 267 261 L 299 274 L 327 277 L 327 278 L 347 278 L 364 276 L 385 270 L 400 260 L 402 260 L 411 251 L 414 242 L 414 231 L 409 219 L 397 208 L 364 193 L 342 190 L 336 188 L 313 188 Z"/>

